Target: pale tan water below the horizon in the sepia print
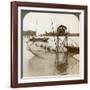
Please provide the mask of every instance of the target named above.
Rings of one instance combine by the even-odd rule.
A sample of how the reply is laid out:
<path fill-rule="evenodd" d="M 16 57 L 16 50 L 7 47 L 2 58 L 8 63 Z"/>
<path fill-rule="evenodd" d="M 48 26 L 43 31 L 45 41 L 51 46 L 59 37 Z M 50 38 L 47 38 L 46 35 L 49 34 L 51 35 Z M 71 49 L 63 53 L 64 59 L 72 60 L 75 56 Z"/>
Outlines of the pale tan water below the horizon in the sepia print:
<path fill-rule="evenodd" d="M 26 41 L 29 38 L 23 39 L 23 76 L 51 76 L 51 75 L 59 75 L 58 71 L 55 67 L 56 54 L 49 53 L 45 51 L 45 49 L 40 46 L 50 47 L 52 49 L 56 49 L 56 37 L 45 36 L 48 39 L 48 42 L 35 42 L 32 44 L 31 49 L 33 52 L 38 53 L 43 58 L 37 57 L 33 55 L 30 51 L 27 50 Z M 59 37 L 60 43 L 64 40 L 64 37 Z M 32 42 L 30 41 L 28 44 L 30 45 Z M 70 46 L 79 46 L 79 37 L 69 37 L 68 45 Z M 59 54 L 60 60 L 63 60 L 63 55 Z M 79 73 L 79 63 L 72 57 L 68 57 L 68 74 L 78 74 Z"/>

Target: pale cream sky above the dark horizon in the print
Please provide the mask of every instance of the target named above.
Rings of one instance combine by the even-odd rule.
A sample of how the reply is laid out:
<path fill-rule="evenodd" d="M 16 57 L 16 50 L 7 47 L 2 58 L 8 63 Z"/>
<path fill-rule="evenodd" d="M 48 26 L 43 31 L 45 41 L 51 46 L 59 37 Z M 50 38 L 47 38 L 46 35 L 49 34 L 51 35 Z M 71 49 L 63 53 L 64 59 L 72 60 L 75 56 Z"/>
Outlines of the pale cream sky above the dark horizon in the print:
<path fill-rule="evenodd" d="M 23 30 L 37 31 L 39 35 L 53 31 L 52 26 L 55 31 L 59 25 L 65 25 L 70 33 L 79 33 L 79 23 L 79 19 L 74 14 L 29 12 L 23 19 Z"/>

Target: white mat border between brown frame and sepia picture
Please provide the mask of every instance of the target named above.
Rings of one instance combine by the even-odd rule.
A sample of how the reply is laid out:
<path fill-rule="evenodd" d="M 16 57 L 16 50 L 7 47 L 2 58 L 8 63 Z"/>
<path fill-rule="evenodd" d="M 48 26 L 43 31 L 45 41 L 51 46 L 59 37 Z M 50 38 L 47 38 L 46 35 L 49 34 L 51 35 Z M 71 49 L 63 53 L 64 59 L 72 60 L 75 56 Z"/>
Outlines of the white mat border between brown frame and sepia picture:
<path fill-rule="evenodd" d="M 63 11 L 63 12 L 80 12 L 80 74 L 65 76 L 40 76 L 40 77 L 24 77 L 21 78 L 21 9 L 24 10 L 40 10 L 40 11 Z M 51 8 L 34 8 L 34 7 L 18 7 L 18 83 L 32 83 L 45 81 L 65 81 L 65 80 L 83 80 L 84 79 L 84 11 L 72 9 L 51 9 Z"/>

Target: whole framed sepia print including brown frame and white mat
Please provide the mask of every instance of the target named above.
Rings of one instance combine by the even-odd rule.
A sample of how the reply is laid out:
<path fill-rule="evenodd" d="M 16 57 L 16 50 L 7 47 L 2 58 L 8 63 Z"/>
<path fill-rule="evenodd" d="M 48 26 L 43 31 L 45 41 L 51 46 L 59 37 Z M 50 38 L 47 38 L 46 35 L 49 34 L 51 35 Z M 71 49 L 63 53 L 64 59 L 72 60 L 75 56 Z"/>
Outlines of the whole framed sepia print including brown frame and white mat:
<path fill-rule="evenodd" d="M 11 2 L 11 87 L 87 83 L 87 6 Z"/>

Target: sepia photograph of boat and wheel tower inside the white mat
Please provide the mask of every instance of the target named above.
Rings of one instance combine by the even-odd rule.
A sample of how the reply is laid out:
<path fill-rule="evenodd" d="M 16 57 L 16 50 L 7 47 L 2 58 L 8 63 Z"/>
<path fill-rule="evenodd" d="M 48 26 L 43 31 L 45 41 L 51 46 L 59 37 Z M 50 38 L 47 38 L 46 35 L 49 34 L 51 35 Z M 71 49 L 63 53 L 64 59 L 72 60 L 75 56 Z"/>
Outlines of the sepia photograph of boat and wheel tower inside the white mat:
<path fill-rule="evenodd" d="M 28 11 L 22 18 L 23 77 L 80 73 L 79 15 Z"/>

